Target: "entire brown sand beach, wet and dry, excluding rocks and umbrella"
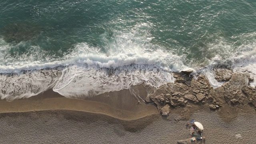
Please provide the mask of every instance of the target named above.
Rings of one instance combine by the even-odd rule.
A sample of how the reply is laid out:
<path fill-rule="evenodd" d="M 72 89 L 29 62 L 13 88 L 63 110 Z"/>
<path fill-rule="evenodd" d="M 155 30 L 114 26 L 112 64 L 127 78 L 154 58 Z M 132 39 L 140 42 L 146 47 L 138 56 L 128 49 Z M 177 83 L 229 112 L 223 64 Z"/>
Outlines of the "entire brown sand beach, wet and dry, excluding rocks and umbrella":
<path fill-rule="evenodd" d="M 138 88 L 138 94 L 146 90 Z M 176 144 L 190 138 L 180 111 L 162 117 L 129 90 L 86 100 L 64 98 L 51 90 L 24 100 L 0 101 L 1 144 Z M 222 114 L 200 107 L 190 118 L 204 126 L 206 144 L 255 144 L 256 112 Z M 230 119 L 223 115 L 230 115 Z M 236 138 L 241 134 L 242 138 Z"/>

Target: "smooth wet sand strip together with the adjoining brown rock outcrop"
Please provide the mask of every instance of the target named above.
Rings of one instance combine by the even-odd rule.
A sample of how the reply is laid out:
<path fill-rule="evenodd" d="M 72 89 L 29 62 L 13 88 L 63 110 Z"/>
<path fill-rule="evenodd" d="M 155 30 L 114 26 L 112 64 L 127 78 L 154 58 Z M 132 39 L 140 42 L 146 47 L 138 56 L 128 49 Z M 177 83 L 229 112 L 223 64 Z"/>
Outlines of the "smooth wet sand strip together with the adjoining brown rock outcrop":
<path fill-rule="evenodd" d="M 81 99 L 66 98 L 50 89 L 12 102 L 0 100 L 0 113 L 72 110 L 136 120 L 160 113 L 168 116 L 177 111 L 181 120 L 188 120 L 190 113 L 208 108 L 229 121 L 236 118 L 238 112 L 255 112 L 256 88 L 250 86 L 253 79 L 248 72 L 217 69 L 216 80 L 224 82 L 218 88 L 212 88 L 204 74 L 190 75 L 191 72 L 174 73 L 175 82 L 157 89 L 140 84 L 98 96 L 76 96 Z"/>

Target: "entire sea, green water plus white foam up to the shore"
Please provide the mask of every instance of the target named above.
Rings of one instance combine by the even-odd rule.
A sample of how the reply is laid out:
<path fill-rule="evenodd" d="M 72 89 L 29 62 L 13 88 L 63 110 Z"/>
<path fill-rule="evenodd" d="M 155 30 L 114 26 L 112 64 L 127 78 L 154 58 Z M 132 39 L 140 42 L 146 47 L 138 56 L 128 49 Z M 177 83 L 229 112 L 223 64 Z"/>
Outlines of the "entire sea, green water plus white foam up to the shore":
<path fill-rule="evenodd" d="M 1 99 L 158 87 L 186 69 L 214 87 L 214 68 L 256 76 L 255 0 L 8 0 L 0 13 Z"/>

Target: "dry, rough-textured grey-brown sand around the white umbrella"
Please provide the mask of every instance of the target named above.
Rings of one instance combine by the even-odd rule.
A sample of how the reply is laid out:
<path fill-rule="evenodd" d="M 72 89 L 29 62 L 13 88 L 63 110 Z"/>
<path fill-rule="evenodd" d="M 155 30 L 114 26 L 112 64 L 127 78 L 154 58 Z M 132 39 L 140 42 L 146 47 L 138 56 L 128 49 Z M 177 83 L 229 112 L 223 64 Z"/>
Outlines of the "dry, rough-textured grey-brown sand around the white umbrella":
<path fill-rule="evenodd" d="M 76 111 L 39 111 L 0 114 L 1 144 L 175 144 L 189 138 L 185 121 L 152 115 L 126 121 L 102 114 Z M 225 122 L 213 111 L 192 118 L 204 124 L 206 144 L 255 144 L 254 114 L 240 113 Z M 241 134 L 242 138 L 236 138 Z"/>

